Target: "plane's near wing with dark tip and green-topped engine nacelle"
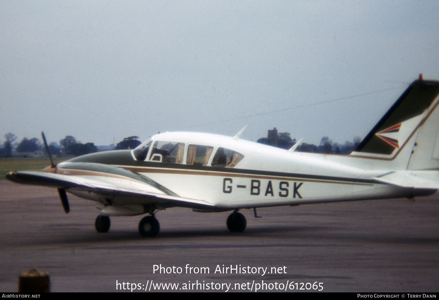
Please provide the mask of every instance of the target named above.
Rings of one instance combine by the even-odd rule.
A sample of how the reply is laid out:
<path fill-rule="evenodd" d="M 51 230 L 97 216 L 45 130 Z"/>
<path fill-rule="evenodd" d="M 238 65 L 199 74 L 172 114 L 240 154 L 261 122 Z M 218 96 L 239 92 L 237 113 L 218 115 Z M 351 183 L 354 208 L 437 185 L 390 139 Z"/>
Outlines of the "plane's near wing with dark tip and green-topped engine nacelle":
<path fill-rule="evenodd" d="M 197 209 L 214 207 L 213 204 L 203 200 L 180 197 L 144 175 L 115 166 L 93 163 L 74 164 L 69 166 L 67 171 L 63 168 L 62 172 L 64 174 L 10 172 L 6 178 L 22 184 L 64 189 L 73 194 L 85 192 L 84 194 L 93 194 L 96 199 L 112 199 L 115 205 L 159 204 L 163 207 L 178 206 Z"/>

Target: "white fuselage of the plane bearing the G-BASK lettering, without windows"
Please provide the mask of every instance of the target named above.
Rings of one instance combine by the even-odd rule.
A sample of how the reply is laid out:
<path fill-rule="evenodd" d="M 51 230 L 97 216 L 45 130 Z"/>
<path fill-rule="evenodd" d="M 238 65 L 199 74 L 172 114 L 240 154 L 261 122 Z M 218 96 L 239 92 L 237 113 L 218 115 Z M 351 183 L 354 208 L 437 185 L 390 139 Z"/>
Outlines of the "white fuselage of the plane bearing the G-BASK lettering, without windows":
<path fill-rule="evenodd" d="M 224 147 L 244 156 L 234 168 L 209 167 L 212 154 L 202 168 L 183 168 L 183 161 L 182 164 L 175 164 L 175 168 L 169 168 L 169 165 L 162 167 L 161 162 L 152 162 L 133 170 L 181 197 L 204 200 L 216 207 L 268 207 L 413 196 L 413 191 L 409 189 L 372 179 L 387 171 L 366 171 L 341 164 L 334 161 L 333 155 L 289 152 L 204 133 L 163 133 L 153 136 L 152 141 L 184 143 L 184 157 L 190 144 L 212 146 L 212 153 Z M 146 160 L 150 156 L 149 153 Z"/>

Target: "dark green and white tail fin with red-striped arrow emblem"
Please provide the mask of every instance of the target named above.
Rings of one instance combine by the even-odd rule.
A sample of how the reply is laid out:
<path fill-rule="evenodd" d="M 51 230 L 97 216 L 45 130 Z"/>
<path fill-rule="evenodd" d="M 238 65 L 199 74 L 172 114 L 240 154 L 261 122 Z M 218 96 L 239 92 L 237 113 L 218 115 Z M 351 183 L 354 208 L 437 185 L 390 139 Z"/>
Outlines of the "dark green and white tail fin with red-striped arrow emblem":
<path fill-rule="evenodd" d="M 351 154 L 398 170 L 439 169 L 439 81 L 414 81 Z"/>

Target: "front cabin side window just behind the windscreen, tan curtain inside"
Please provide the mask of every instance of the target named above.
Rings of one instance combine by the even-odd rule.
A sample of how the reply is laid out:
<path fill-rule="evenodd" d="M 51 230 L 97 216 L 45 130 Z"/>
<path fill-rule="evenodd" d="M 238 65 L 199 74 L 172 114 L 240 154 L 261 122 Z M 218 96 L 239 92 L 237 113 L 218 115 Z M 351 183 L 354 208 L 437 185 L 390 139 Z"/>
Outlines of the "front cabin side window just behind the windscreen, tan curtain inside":
<path fill-rule="evenodd" d="M 154 143 L 150 161 L 171 164 L 183 163 L 184 143 L 161 142 Z"/>

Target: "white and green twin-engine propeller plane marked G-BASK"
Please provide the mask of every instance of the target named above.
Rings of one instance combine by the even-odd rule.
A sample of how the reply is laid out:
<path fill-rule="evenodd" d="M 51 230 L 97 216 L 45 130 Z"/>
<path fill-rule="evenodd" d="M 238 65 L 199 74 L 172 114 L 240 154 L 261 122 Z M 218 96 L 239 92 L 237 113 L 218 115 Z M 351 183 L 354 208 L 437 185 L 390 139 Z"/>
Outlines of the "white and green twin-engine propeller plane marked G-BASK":
<path fill-rule="evenodd" d="M 155 212 L 187 207 L 233 211 L 232 232 L 246 227 L 242 208 L 427 196 L 439 189 L 439 82 L 414 81 L 349 155 L 294 152 L 208 133 L 166 132 L 133 150 L 87 154 L 41 172 L 10 172 L 19 183 L 96 202 L 97 232 L 110 216 L 149 214 L 142 236 L 156 236 Z M 47 147 L 45 138 L 44 142 Z M 51 159 L 51 158 L 50 158 Z M 255 216 L 256 216 L 256 210 Z"/>

